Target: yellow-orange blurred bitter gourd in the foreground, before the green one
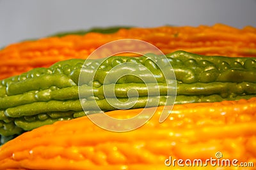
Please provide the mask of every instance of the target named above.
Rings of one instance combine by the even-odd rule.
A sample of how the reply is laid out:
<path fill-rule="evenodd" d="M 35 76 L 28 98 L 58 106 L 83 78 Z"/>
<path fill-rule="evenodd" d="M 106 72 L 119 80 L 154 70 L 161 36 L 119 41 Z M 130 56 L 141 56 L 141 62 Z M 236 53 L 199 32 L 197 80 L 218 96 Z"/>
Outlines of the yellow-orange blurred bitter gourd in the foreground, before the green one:
<path fill-rule="evenodd" d="M 107 114 L 130 118 L 141 110 Z M 147 124 L 123 133 L 101 129 L 88 117 L 39 127 L 1 146 L 0 169 L 180 169 L 177 162 L 170 167 L 164 164 L 170 157 L 191 159 L 192 163 L 201 159 L 202 164 L 211 158 L 230 162 L 237 159 L 237 166 L 241 162 L 255 164 L 255 97 L 247 101 L 177 104 L 168 119 L 159 124 L 162 110 L 158 107 Z M 95 114 L 99 118 L 100 115 Z M 216 158 L 218 152 L 223 155 L 221 159 Z M 210 162 L 204 168 L 199 162 L 199 166 L 181 169 L 205 167 L 237 169 L 232 164 L 212 166 Z"/>

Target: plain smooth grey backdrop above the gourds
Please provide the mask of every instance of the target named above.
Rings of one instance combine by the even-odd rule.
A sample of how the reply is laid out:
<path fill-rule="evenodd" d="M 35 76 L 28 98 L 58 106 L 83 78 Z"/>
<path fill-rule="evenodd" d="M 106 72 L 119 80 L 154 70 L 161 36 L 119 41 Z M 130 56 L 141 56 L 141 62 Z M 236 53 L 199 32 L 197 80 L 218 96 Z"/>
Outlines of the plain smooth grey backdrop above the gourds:
<path fill-rule="evenodd" d="M 128 25 L 256 27 L 255 0 L 0 0 L 0 47 L 56 32 Z"/>

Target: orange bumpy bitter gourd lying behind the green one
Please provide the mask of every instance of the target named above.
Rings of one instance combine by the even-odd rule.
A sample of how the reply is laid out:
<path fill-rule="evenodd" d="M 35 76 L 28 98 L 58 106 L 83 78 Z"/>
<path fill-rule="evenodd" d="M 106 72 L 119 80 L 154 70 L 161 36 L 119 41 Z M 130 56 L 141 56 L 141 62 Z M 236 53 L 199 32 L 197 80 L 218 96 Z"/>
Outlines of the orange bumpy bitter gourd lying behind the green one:
<path fill-rule="evenodd" d="M 96 30 L 97 32 L 95 30 L 94 32 L 78 32 L 77 35 L 70 32 L 61 38 L 50 37 L 24 41 L 0 50 L 0 59 L 4 60 L 0 63 L 0 80 L 24 73 L 35 67 L 49 67 L 60 60 L 84 59 L 99 46 L 124 38 L 147 41 L 157 46 L 163 53 L 185 50 L 202 55 L 255 57 L 255 30 L 254 27 L 249 26 L 236 29 L 223 24 L 211 27 L 205 25 L 131 29 L 118 27 Z M 84 35 L 81 36 L 83 33 Z"/>

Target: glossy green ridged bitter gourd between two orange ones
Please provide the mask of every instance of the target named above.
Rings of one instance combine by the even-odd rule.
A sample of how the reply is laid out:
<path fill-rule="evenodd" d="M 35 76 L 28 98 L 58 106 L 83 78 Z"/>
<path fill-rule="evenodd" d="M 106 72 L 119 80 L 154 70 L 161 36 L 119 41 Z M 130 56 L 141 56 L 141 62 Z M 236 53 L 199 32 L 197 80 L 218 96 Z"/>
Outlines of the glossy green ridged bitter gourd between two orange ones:
<path fill-rule="evenodd" d="M 148 55 L 158 59 L 158 62 L 164 62 L 159 60 L 160 57 L 157 55 Z M 132 103 L 135 103 L 132 108 L 144 108 L 147 101 L 149 104 L 147 106 L 155 106 L 158 100 L 159 106 L 164 105 L 166 99 L 176 95 L 174 92 L 176 84 L 175 104 L 250 99 L 256 96 L 255 58 L 203 56 L 183 51 L 170 53 L 166 57 L 172 64 L 176 80 L 165 80 L 161 69 L 145 56 L 136 58 L 114 56 L 104 62 L 103 59 L 86 60 L 84 66 L 82 59 L 65 60 L 49 68 L 33 69 L 20 76 L 2 80 L 0 81 L 0 134 L 13 136 L 45 124 L 99 112 L 93 102 L 96 102 L 102 111 L 116 110 L 117 108 L 107 101 L 115 96 L 124 103 L 121 104 L 124 105 L 120 106 L 121 108 Z M 127 62 L 142 64 L 154 74 L 157 82 L 152 81 L 151 75 L 147 74 L 145 69 L 138 68 L 136 71 L 146 80 L 145 82 L 132 75 L 122 76 L 116 81 L 116 76 L 134 67 L 127 64 L 122 69 L 109 71 L 118 64 Z M 83 78 L 81 80 L 83 85 L 79 87 L 82 92 L 80 95 L 83 97 L 81 102 L 86 108 L 86 113 L 79 101 L 78 90 L 82 66 L 83 73 L 88 77 L 93 74 L 95 68 L 99 67 L 93 82 Z M 164 71 L 166 73 L 166 70 Z M 107 74 L 111 74 L 108 81 L 104 80 Z M 168 86 L 167 81 L 171 85 Z M 111 87 L 114 83 L 116 84 L 113 89 Z M 160 96 L 157 95 L 158 87 Z M 136 89 L 139 97 L 136 97 L 137 93 L 128 93 L 129 89 Z M 111 90 L 114 90 L 115 96 Z M 150 96 L 148 96 L 149 90 Z M 168 90 L 170 94 L 167 93 Z"/>

